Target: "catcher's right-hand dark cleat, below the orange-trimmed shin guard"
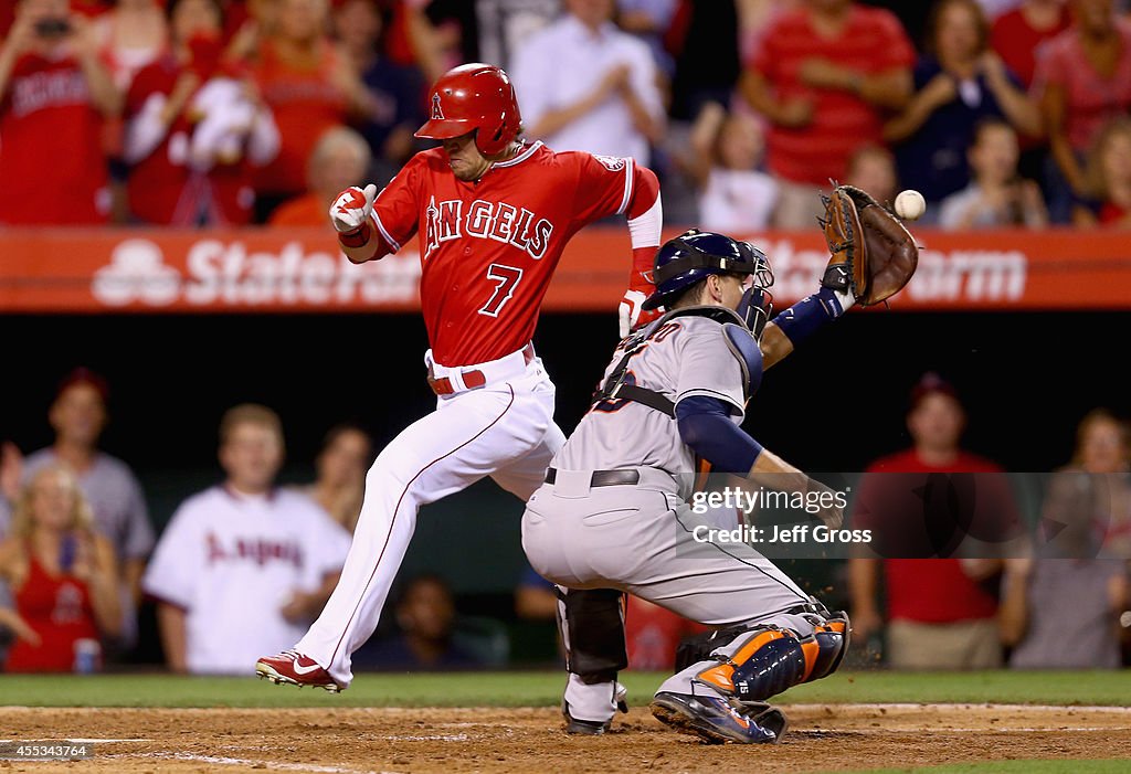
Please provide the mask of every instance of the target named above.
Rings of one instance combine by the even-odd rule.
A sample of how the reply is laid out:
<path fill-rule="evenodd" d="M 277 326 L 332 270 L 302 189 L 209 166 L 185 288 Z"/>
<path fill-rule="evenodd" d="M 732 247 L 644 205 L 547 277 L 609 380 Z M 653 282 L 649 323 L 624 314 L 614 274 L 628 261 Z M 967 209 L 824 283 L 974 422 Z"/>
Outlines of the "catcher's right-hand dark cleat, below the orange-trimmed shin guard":
<path fill-rule="evenodd" d="M 776 745 L 789 727 L 785 714 L 768 704 L 740 710 L 725 698 L 710 694 L 693 696 L 661 692 L 651 702 L 651 714 L 676 731 L 694 733 L 716 745 Z"/>

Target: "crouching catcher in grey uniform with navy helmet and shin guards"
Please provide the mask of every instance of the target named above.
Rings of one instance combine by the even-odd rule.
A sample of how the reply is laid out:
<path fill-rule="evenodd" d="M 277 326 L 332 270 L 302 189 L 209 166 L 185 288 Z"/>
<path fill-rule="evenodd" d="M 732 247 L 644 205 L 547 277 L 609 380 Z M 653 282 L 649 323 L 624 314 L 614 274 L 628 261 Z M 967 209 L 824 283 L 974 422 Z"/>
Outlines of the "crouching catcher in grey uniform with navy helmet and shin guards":
<path fill-rule="evenodd" d="M 615 672 L 623 592 L 720 627 L 651 705 L 661 721 L 708 740 L 779 740 L 786 719 L 765 699 L 839 664 L 847 617 L 750 546 L 697 540 L 706 531 L 696 528 L 713 524 L 687 499 L 699 458 L 767 488 L 826 493 L 821 519 L 839 524 L 831 490 L 739 424 L 763 368 L 854 303 L 841 268 L 830 266 L 827 287 L 767 324 L 774 276 L 759 250 L 692 229 L 657 253 L 656 290 L 644 306 L 670 311 L 616 348 L 593 409 L 523 516 L 530 564 L 567 588 L 559 607 L 569 730 L 603 732 L 623 697 Z M 571 605 L 578 593 L 584 621 Z"/>

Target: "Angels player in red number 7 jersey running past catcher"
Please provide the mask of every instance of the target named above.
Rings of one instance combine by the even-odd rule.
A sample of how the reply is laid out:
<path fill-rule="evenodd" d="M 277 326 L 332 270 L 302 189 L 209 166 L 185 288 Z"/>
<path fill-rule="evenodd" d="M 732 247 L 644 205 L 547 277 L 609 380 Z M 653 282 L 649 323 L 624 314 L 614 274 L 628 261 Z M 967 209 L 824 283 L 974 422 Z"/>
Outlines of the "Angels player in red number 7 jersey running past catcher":
<path fill-rule="evenodd" d="M 542 484 L 566 438 L 530 338 L 554 267 L 582 226 L 628 217 L 633 270 L 621 334 L 640 321 L 663 220 L 656 175 L 631 158 L 523 142 L 520 131 L 506 72 L 455 68 L 432 87 L 430 120 L 416 132 L 442 147 L 416 154 L 380 194 L 375 185 L 347 189 L 330 208 L 355 263 L 418 234 L 424 359 L 438 407 L 373 463 L 337 588 L 293 650 L 257 662 L 261 677 L 347 687 L 351 654 L 377 627 L 417 510 L 484 476 L 524 502 Z"/>

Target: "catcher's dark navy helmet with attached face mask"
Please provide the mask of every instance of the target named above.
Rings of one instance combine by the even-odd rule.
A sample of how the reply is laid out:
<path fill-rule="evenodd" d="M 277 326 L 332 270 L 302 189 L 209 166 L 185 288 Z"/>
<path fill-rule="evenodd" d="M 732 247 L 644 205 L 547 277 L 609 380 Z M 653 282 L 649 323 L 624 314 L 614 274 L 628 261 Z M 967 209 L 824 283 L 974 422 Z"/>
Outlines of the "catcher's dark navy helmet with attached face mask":
<path fill-rule="evenodd" d="M 644 308 L 663 306 L 709 275 L 748 275 L 745 293 L 735 311 L 760 337 L 774 307 L 767 290 L 774 285 L 769 259 L 749 242 L 714 232 L 692 228 L 664 243 L 653 264 L 656 289 L 644 302 Z"/>

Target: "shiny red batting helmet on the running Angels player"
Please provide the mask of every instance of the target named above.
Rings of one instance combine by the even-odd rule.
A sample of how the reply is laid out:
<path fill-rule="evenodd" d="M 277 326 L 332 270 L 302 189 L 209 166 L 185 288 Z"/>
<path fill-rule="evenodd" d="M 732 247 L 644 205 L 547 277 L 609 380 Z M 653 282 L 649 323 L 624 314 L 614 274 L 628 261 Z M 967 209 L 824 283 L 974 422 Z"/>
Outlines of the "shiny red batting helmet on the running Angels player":
<path fill-rule="evenodd" d="M 510 77 L 494 64 L 460 64 L 440 76 L 429 94 L 429 120 L 416 137 L 447 140 L 478 130 L 484 156 L 502 153 L 523 125 Z"/>

